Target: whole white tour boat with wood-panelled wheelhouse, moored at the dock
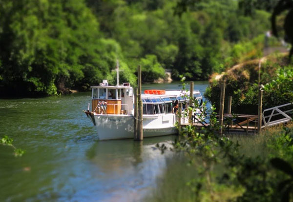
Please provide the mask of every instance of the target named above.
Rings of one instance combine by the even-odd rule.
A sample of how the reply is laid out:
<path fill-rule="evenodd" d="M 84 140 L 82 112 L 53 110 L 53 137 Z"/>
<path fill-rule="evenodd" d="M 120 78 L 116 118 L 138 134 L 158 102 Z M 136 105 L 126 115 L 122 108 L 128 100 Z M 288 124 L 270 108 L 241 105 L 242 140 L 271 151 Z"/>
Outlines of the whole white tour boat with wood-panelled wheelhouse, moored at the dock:
<path fill-rule="evenodd" d="M 133 138 L 134 96 L 129 83 L 108 86 L 106 80 L 100 86 L 92 86 L 91 111 L 84 111 L 97 129 L 100 140 Z M 170 135 L 177 132 L 175 123 L 178 114 L 173 107 L 183 103 L 183 111 L 189 103 L 189 92 L 181 90 L 146 90 L 141 95 L 143 101 L 144 137 Z M 202 101 L 199 91 L 193 92 L 194 98 Z M 182 115 L 182 123 L 188 118 Z"/>

